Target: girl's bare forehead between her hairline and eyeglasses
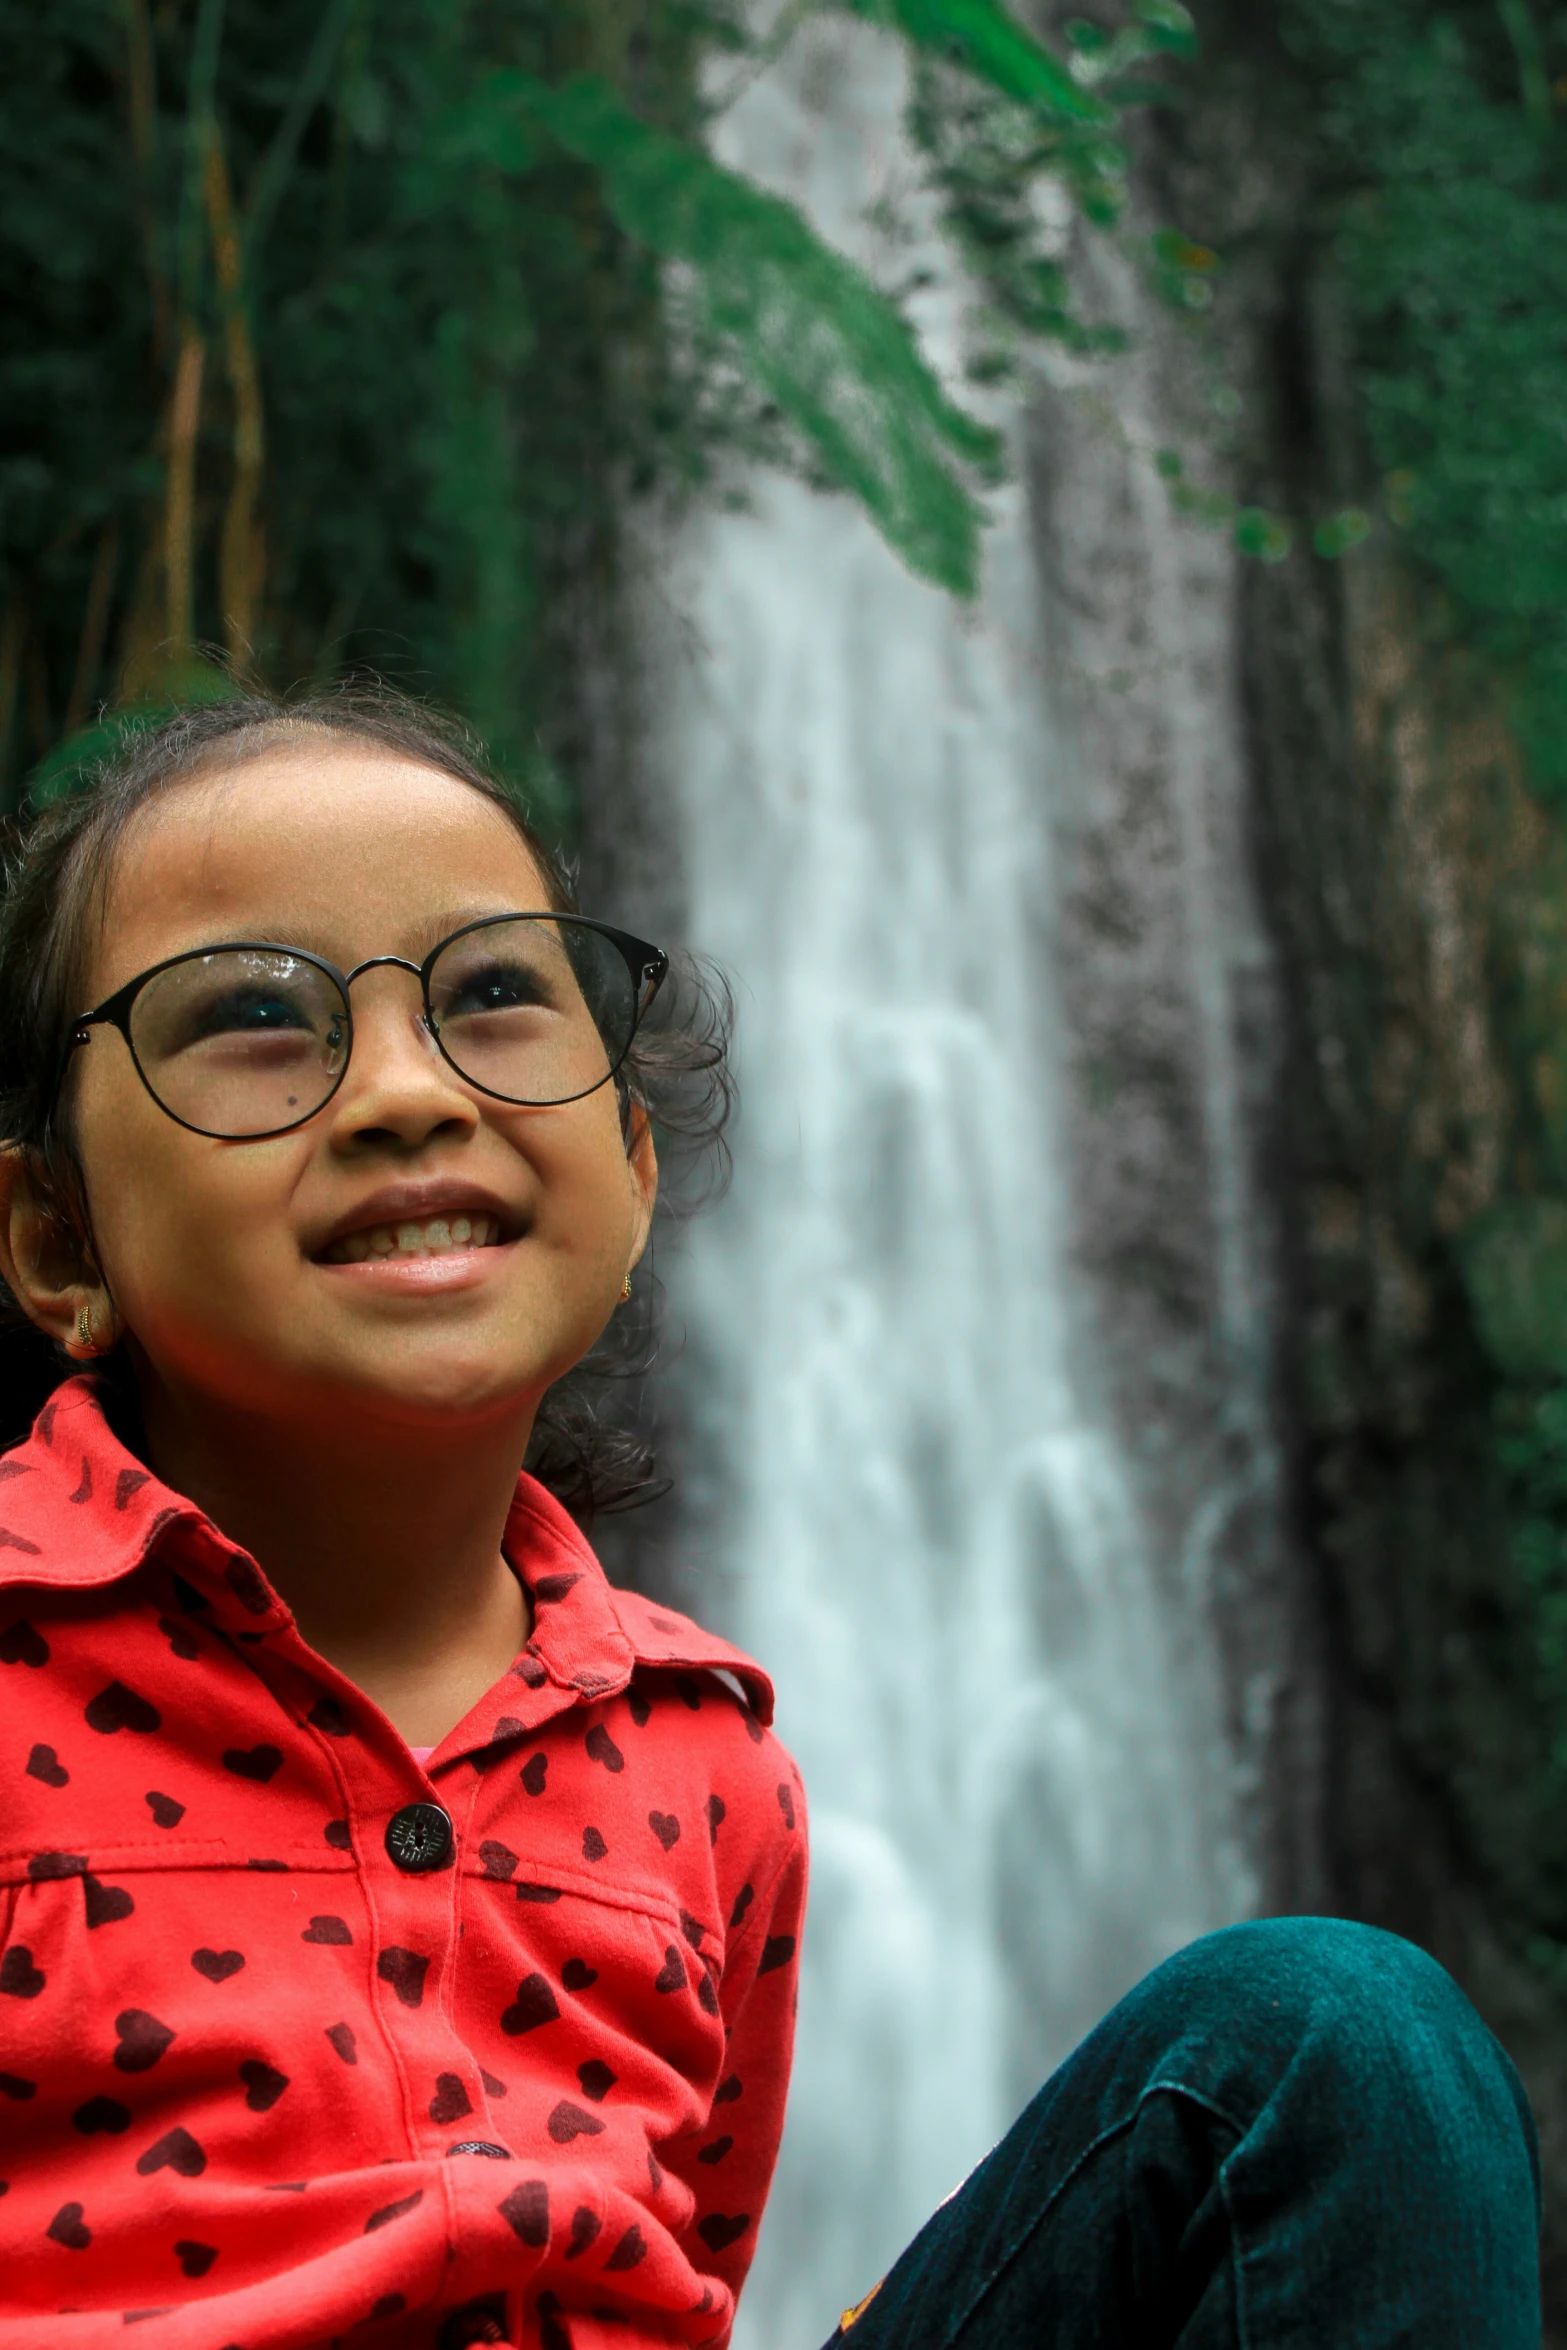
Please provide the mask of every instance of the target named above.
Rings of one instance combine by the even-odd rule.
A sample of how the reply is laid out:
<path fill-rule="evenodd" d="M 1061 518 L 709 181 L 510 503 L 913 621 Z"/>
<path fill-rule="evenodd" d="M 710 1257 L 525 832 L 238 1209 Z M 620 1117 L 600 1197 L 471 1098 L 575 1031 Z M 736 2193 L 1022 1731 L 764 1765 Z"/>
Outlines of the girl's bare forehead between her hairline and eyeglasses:
<path fill-rule="evenodd" d="M 275 938 L 343 968 L 418 959 L 442 924 L 547 902 L 519 832 L 456 776 L 376 745 L 287 743 L 195 773 L 132 818 L 89 940 L 89 992 L 99 1001 L 221 938 Z"/>

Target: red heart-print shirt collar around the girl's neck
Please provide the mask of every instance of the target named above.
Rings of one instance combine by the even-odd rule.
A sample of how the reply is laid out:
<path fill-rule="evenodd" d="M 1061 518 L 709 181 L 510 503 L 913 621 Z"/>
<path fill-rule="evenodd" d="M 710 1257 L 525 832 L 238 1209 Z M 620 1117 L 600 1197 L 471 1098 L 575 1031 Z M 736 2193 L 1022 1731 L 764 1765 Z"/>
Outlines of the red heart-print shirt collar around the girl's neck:
<path fill-rule="evenodd" d="M 773 1685 L 761 1666 L 672 1607 L 611 1589 L 583 1530 L 526 1473 L 517 1478 L 505 1553 L 529 1589 L 533 1636 L 460 1725 L 460 1748 L 484 1744 L 484 1732 L 496 1739 L 531 1730 L 566 1704 L 613 1697 L 637 1666 L 728 1673 L 749 1713 L 773 1720 Z M 103 1589 L 153 1556 L 200 1589 L 226 1631 L 291 1629 L 289 1607 L 249 1551 L 120 1443 L 96 1379 L 66 1379 L 28 1438 L 0 1457 L 0 1591 Z M 442 1744 L 444 1755 L 456 1739 Z"/>

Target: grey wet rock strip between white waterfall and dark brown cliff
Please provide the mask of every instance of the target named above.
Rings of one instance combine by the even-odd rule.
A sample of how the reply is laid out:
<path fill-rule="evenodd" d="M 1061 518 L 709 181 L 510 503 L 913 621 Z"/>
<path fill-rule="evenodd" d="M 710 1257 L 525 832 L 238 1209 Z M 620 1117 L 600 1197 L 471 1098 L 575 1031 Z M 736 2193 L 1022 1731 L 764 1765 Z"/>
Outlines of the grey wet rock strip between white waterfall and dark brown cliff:
<path fill-rule="evenodd" d="M 1278 1382 L 1283 973 L 1250 855 L 1247 583 L 1156 463 L 1184 442 L 1224 479 L 1201 352 L 1095 244 L 1078 282 L 1128 355 L 1045 367 L 1027 461 L 1071 740 L 1050 827 L 1078 1311 L 1172 1619 L 1215 1643 L 1259 1904 L 1313 1908 L 1320 1640 Z"/>

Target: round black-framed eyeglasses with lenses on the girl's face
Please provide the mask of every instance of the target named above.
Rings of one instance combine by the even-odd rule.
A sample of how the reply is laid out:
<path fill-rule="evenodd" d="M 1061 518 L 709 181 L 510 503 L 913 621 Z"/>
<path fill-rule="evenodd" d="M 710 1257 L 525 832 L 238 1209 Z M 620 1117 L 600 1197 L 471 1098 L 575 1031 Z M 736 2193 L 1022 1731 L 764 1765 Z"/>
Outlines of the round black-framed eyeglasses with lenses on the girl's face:
<path fill-rule="evenodd" d="M 218 1142 L 261 1142 L 338 1090 L 355 1041 L 348 989 L 383 964 L 413 973 L 425 1027 L 468 1086 L 547 1109 L 616 1076 L 670 956 L 583 914 L 486 914 L 423 964 L 374 954 L 352 971 L 237 940 L 153 964 L 82 1013 L 70 1046 L 117 1027 L 167 1116 Z"/>

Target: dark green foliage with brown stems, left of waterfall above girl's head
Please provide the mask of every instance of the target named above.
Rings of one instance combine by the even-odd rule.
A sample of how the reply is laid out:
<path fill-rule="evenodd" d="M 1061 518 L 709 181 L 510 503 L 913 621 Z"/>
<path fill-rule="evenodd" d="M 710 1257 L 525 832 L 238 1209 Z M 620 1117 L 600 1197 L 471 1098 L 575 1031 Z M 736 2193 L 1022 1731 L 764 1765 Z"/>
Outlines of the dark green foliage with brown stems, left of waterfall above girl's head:
<path fill-rule="evenodd" d="M 557 155 L 519 190 L 435 134 L 484 70 L 557 70 L 587 16 L 230 0 L 197 42 L 216 19 L 0 5 L 12 787 L 99 703 L 188 691 L 207 642 L 284 682 L 369 663 L 435 691 L 559 818 L 552 590 L 592 573 L 684 411 L 655 263 L 592 174 Z M 658 28 L 639 70 L 677 110 L 695 33 Z"/>

